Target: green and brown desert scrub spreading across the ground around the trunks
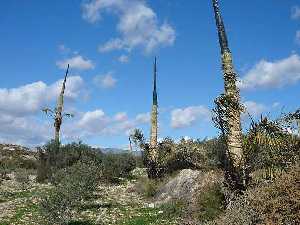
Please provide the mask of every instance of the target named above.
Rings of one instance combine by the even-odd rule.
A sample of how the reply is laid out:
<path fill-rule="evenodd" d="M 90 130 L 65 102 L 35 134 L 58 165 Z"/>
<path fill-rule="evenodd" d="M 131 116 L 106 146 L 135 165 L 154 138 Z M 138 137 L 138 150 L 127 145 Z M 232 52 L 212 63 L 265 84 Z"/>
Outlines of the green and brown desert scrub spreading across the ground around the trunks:
<path fill-rule="evenodd" d="M 103 153 L 83 143 L 60 145 L 55 141 L 39 148 L 37 153 L 3 151 L 2 155 L 7 157 L 1 160 L 1 181 L 12 179 L 13 173 L 20 191 L 14 195 L 2 192 L 0 202 L 31 196 L 32 177 L 36 177 L 37 182 L 46 185 L 38 191 L 38 204 L 28 206 L 36 213 L 36 221 L 101 224 L 79 215 L 87 209 L 124 209 L 118 205 L 121 199 L 101 201 L 99 187 L 113 188 L 132 182 L 133 186 L 126 189 L 128 194 L 136 193 L 145 201 L 155 202 L 180 171 L 192 169 L 203 174 L 202 180 L 196 181 L 201 188 L 195 196 L 173 198 L 154 208 L 132 205 L 136 216 L 120 219 L 120 224 L 299 224 L 300 140 L 290 132 L 295 130 L 298 116 L 297 111 L 273 121 L 265 117 L 252 121 L 243 137 L 247 188 L 242 192 L 228 185 L 226 175 L 231 171 L 222 135 L 210 140 L 163 139 L 158 144 L 160 176 L 149 179 L 141 169 L 147 170 L 148 143 L 142 132 L 136 130 L 132 140 L 143 150 L 140 156 L 130 152 Z M 9 154 L 12 156 L 8 157 Z"/>

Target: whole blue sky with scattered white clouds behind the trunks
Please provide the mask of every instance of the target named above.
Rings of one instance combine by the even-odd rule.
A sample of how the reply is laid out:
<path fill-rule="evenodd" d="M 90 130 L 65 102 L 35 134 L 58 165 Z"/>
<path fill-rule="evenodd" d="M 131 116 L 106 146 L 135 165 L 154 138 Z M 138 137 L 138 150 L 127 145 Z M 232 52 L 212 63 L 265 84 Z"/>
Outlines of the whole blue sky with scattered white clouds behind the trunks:
<path fill-rule="evenodd" d="M 241 100 L 259 118 L 299 108 L 300 1 L 220 0 Z M 62 142 L 128 147 L 149 137 L 158 58 L 159 137 L 212 138 L 223 92 L 210 0 L 2 0 L 0 142 L 42 145 L 67 64 Z M 243 129 L 249 119 L 242 115 Z"/>

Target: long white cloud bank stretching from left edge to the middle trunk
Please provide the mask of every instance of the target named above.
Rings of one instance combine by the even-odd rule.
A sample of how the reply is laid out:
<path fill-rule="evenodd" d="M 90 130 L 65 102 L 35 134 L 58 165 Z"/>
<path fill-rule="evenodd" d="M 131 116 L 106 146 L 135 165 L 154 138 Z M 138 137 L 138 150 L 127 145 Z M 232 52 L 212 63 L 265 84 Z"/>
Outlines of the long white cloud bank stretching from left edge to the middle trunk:
<path fill-rule="evenodd" d="M 11 89 L 0 89 L 0 142 L 27 146 L 44 144 L 53 137 L 53 121 L 42 114 L 41 109 L 54 105 L 62 80 L 47 85 L 42 81 Z M 66 100 L 76 100 L 84 90 L 79 76 L 67 80 Z M 89 137 L 127 135 L 149 122 L 149 113 L 129 118 L 126 112 L 107 115 L 104 110 L 81 112 L 70 109 L 74 119 L 62 124 L 62 140 L 84 140 Z"/>

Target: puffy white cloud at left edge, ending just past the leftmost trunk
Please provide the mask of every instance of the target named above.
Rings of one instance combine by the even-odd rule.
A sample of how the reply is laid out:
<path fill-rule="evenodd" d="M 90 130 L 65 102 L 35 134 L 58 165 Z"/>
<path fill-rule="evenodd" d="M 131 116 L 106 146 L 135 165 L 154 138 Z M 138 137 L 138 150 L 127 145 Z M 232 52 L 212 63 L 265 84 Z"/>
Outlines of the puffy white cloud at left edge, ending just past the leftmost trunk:
<path fill-rule="evenodd" d="M 66 99 L 78 98 L 83 90 L 80 76 L 70 76 Z M 52 121 L 39 119 L 41 109 L 53 103 L 59 95 L 62 80 L 47 85 L 42 81 L 17 88 L 0 89 L 0 141 L 22 145 L 37 145 L 49 140 Z"/>

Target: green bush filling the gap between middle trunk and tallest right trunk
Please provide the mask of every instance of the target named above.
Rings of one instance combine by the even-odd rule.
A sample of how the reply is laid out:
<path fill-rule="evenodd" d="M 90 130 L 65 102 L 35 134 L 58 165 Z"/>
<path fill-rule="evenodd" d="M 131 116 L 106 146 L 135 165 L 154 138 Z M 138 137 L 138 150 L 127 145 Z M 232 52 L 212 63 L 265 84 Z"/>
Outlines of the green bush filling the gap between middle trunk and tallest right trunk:
<path fill-rule="evenodd" d="M 224 164 L 224 147 L 221 139 L 185 140 L 178 143 L 165 138 L 158 145 L 156 173 L 158 177 L 172 174 L 182 169 L 211 170 L 221 168 Z M 148 150 L 145 145 L 144 163 L 151 168 L 148 161 Z"/>

